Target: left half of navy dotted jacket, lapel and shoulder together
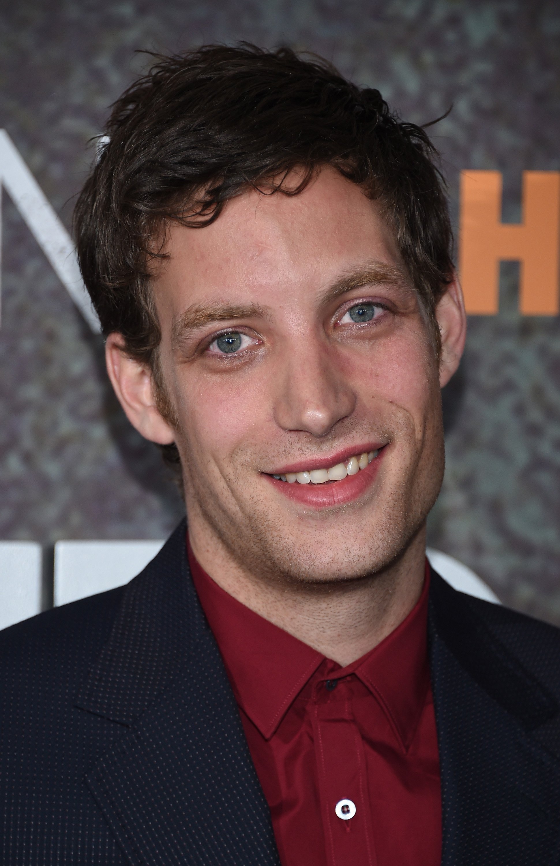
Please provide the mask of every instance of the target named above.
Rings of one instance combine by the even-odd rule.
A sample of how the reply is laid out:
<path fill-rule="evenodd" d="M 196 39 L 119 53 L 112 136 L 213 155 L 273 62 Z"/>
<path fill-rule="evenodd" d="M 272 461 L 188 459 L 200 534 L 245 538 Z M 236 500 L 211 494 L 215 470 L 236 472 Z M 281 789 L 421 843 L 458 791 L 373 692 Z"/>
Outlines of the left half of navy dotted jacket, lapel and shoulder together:
<path fill-rule="evenodd" d="M 185 524 L 124 589 L 0 635 L 2 866 L 279 866 Z"/>

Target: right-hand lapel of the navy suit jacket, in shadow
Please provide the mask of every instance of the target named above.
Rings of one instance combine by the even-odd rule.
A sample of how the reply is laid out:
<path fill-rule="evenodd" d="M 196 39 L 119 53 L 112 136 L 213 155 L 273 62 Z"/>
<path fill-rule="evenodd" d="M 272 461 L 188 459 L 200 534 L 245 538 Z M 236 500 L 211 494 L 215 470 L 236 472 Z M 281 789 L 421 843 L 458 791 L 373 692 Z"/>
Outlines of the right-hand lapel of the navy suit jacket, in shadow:
<path fill-rule="evenodd" d="M 434 572 L 429 635 L 442 866 L 557 863 L 560 764 L 539 736 L 560 741 L 556 701 Z"/>

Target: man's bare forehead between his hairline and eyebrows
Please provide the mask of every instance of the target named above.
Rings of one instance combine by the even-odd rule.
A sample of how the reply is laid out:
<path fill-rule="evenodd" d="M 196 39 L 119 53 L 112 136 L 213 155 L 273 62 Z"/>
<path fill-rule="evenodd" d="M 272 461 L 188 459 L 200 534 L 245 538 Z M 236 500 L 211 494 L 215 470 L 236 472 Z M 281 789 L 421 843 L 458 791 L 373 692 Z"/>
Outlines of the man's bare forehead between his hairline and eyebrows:
<path fill-rule="evenodd" d="M 173 225 L 166 251 L 157 300 L 174 314 L 248 294 L 309 297 L 372 260 L 405 269 L 377 204 L 332 169 L 294 196 L 243 193 L 203 229 Z"/>

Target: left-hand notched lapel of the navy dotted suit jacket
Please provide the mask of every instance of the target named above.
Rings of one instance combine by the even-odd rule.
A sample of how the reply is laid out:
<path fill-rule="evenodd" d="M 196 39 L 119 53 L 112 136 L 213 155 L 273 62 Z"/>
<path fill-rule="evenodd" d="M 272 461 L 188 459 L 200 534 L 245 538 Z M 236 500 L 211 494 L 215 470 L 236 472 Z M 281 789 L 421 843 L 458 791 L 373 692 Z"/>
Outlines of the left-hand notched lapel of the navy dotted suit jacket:
<path fill-rule="evenodd" d="M 124 735 L 86 782 L 130 863 L 277 866 L 235 698 L 189 578 L 185 527 L 126 591 L 78 705 Z"/>

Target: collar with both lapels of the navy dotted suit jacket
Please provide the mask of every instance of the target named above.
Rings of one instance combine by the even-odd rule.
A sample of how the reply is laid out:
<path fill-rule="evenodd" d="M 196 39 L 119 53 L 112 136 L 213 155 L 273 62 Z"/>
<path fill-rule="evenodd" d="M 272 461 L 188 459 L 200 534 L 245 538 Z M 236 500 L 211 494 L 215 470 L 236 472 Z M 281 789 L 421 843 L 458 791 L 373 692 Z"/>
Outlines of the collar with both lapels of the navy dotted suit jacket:
<path fill-rule="evenodd" d="M 270 816 L 184 522 L 127 586 L 77 706 L 126 726 L 86 782 L 129 863 L 278 866 Z M 557 702 L 472 600 L 431 575 L 428 643 L 441 762 L 442 866 L 558 856 Z M 555 853 L 556 852 L 556 853 Z"/>

